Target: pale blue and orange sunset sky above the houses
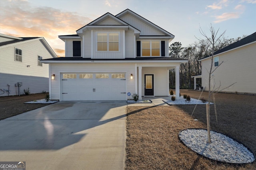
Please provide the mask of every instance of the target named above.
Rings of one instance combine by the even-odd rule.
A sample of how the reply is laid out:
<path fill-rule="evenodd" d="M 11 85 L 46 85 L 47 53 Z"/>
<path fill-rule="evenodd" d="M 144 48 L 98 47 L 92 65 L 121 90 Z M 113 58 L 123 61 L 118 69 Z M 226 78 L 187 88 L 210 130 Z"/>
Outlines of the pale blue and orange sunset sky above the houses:
<path fill-rule="evenodd" d="M 225 37 L 256 31 L 256 0 L 0 0 L 0 33 L 16 37 L 44 37 L 59 57 L 64 42 L 58 35 L 76 30 L 110 12 L 130 9 L 175 35 L 183 47 L 209 33 L 212 23 Z"/>

